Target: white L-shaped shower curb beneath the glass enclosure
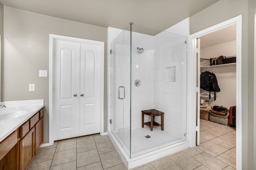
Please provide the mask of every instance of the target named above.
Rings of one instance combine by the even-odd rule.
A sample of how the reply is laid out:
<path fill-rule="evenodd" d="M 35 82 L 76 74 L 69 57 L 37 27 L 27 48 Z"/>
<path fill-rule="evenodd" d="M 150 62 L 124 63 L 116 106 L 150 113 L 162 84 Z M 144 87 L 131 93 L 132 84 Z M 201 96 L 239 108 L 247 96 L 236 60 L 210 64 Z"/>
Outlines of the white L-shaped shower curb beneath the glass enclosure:
<path fill-rule="evenodd" d="M 108 136 L 110 137 L 110 140 L 112 141 L 118 154 L 122 158 L 122 161 L 124 162 L 126 168 L 128 169 L 140 166 L 142 164 L 151 162 L 164 156 L 168 156 L 189 147 L 188 141 L 184 141 L 184 139 L 179 139 L 177 141 L 166 144 L 166 147 L 154 147 L 150 150 L 146 150 L 146 152 L 138 152 L 137 154 L 133 155 L 133 158 L 130 158 L 126 154 L 126 151 L 128 151 L 129 149 L 125 147 L 125 145 L 124 147 L 122 147 L 122 145 L 118 142 L 118 139 L 116 139 L 115 135 L 111 131 L 108 132 Z"/>

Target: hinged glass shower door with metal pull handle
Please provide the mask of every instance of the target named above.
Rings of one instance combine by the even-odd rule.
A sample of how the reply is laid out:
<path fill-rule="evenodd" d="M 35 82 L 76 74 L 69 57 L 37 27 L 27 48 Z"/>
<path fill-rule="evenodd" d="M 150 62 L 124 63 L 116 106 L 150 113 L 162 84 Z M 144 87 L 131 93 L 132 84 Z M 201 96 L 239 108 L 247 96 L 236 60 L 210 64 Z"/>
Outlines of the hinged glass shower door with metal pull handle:
<path fill-rule="evenodd" d="M 130 46 L 122 31 L 111 43 L 111 132 L 130 156 Z"/>

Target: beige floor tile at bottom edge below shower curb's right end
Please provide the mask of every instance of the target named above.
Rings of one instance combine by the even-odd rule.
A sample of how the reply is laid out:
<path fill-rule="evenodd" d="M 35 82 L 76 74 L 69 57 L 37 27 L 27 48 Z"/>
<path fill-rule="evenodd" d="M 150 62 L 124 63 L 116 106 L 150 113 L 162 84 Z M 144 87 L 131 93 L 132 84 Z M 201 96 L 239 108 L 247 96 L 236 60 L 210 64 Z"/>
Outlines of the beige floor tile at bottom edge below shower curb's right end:
<path fill-rule="evenodd" d="M 201 166 L 198 161 L 194 160 L 184 152 L 172 155 L 170 156 L 170 159 L 178 166 L 180 166 L 180 168 L 182 168 L 183 170 L 193 170 L 194 168 Z"/>

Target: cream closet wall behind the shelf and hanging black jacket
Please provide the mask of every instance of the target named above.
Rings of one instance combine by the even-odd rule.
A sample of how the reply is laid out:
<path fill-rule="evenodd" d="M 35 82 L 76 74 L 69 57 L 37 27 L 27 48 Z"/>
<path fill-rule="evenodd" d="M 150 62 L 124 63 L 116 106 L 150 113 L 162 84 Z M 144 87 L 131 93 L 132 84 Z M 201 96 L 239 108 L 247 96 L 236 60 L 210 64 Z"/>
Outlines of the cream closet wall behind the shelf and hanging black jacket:
<path fill-rule="evenodd" d="M 220 55 L 236 55 L 236 40 L 200 49 L 201 58 L 209 59 Z M 207 64 L 210 65 L 210 61 L 207 61 Z M 200 72 L 206 70 L 208 68 L 200 69 Z M 230 106 L 236 106 L 236 66 L 210 68 L 210 71 L 216 75 L 220 87 L 220 92 L 216 92 L 216 100 L 210 99 L 210 106 L 223 106 L 228 109 Z M 201 92 L 205 92 L 205 90 L 201 89 Z M 209 98 L 204 97 L 201 99 L 209 100 Z"/>

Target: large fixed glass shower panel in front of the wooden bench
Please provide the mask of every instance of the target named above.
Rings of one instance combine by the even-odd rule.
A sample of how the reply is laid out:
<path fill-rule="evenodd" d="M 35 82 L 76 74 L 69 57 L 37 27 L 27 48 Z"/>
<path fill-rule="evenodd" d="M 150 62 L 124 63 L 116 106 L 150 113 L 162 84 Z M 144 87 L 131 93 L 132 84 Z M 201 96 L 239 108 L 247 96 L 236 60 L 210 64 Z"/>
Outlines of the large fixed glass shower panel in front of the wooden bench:
<path fill-rule="evenodd" d="M 186 37 L 137 24 L 131 34 L 130 157 L 134 157 L 186 140 L 188 80 Z M 149 109 L 155 110 L 145 111 Z"/>

